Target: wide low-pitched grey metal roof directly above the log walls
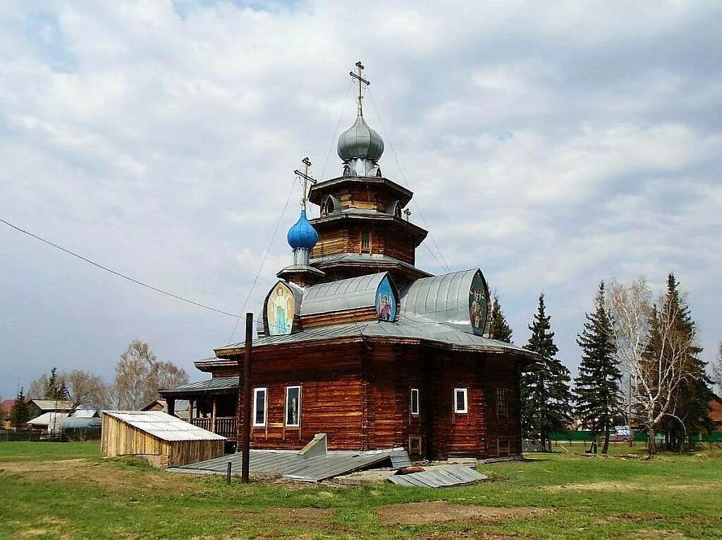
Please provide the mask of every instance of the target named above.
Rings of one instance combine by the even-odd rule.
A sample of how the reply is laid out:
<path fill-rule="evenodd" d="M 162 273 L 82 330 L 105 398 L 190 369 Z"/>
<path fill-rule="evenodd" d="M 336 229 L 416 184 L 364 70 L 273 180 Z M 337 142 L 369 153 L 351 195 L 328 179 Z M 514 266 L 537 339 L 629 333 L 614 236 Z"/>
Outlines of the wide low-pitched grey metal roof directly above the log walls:
<path fill-rule="evenodd" d="M 388 337 L 399 339 L 417 339 L 432 344 L 442 344 L 452 349 L 464 349 L 487 352 L 516 352 L 527 357 L 536 357 L 531 351 L 518 347 L 518 345 L 504 343 L 495 339 L 476 336 L 471 333 L 471 328 L 466 331 L 446 323 L 430 323 L 419 315 L 400 313 L 395 323 L 388 321 L 365 321 L 362 323 L 337 324 L 334 326 L 319 326 L 308 328 L 297 334 L 286 334 L 283 336 L 269 336 L 255 339 L 253 347 L 264 347 L 266 345 L 285 345 L 305 343 L 309 341 L 323 341 L 329 339 L 349 337 Z M 240 342 L 232 345 L 225 345 L 216 349 L 221 353 L 226 349 L 238 349 L 243 347 Z"/>

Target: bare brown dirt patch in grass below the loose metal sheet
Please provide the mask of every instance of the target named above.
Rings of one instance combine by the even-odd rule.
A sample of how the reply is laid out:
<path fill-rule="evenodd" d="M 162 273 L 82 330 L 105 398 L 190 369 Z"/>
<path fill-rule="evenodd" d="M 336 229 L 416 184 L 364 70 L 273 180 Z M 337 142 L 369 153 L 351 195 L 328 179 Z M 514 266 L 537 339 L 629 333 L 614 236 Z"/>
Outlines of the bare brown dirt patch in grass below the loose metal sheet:
<path fill-rule="evenodd" d="M 455 505 L 451 502 L 408 502 L 388 505 L 378 510 L 378 517 L 386 526 L 423 525 L 444 521 L 482 521 L 499 523 L 510 519 L 533 518 L 548 513 L 544 508 L 522 506 L 497 508 L 495 506 Z"/>

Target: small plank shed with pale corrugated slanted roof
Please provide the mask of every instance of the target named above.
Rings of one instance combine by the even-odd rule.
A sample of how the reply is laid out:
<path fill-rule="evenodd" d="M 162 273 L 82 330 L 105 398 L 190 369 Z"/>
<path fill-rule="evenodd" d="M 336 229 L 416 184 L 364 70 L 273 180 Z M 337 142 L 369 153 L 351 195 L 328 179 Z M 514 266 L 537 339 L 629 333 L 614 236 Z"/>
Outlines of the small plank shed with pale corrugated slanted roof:
<path fill-rule="evenodd" d="M 218 458 L 225 440 L 162 411 L 103 411 L 100 453 L 139 456 L 165 469 Z"/>

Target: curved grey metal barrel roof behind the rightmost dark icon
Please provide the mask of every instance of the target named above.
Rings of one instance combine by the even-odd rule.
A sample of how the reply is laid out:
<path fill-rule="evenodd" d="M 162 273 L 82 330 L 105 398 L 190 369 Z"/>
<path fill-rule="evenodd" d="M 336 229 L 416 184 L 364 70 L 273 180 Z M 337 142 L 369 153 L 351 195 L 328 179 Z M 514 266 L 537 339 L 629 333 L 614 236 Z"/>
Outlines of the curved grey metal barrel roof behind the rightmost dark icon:
<path fill-rule="evenodd" d="M 469 290 L 478 269 L 424 277 L 401 292 L 401 310 L 428 321 L 469 323 Z"/>

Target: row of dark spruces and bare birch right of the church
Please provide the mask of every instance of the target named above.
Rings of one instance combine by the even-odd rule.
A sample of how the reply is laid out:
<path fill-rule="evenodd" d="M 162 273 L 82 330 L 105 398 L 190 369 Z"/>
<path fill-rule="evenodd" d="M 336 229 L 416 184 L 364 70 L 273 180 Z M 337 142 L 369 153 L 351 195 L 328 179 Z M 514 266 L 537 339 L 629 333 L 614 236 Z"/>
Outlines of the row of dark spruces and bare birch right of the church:
<path fill-rule="evenodd" d="M 697 325 L 674 274 L 655 300 L 645 279 L 599 284 L 593 310 L 577 335 L 581 358 L 574 380 L 557 359 L 543 292 L 529 331 L 523 347 L 539 354 L 539 362 L 521 376 L 522 432 L 539 440 L 541 450 L 551 450 L 552 432 L 574 424 L 591 432 L 594 453 L 600 442 L 602 453 L 607 452 L 619 424 L 645 430 L 650 453 L 656 452 L 657 435 L 664 436 L 666 448 L 681 450 L 714 429 L 710 400 L 715 383 L 722 394 L 722 342 L 710 378 L 700 357 Z M 512 342 L 497 295 L 490 337 Z"/>

